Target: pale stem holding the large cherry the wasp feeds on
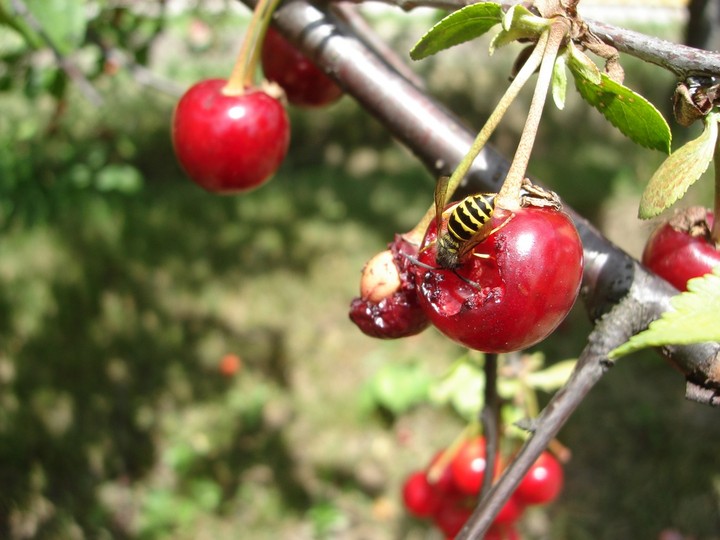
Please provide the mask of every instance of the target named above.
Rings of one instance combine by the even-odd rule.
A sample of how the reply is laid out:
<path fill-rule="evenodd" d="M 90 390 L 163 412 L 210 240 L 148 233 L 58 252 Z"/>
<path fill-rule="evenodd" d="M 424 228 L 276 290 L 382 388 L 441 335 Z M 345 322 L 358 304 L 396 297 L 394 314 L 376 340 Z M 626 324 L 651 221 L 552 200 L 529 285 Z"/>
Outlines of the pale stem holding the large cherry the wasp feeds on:
<path fill-rule="evenodd" d="M 528 163 L 530 163 L 530 154 L 535 144 L 535 137 L 537 136 L 538 127 L 540 126 L 543 107 L 545 106 L 545 100 L 550 88 L 550 83 L 552 82 L 555 59 L 567 35 L 568 29 L 568 23 L 564 19 L 558 19 L 552 24 L 550 29 L 546 31 L 548 36 L 547 44 L 542 51 L 542 64 L 540 66 L 540 72 L 538 73 L 535 92 L 530 102 L 530 110 L 525 120 L 525 127 L 523 128 L 522 135 L 520 135 L 520 142 L 518 143 L 515 156 L 510 164 L 510 169 L 495 199 L 495 205 L 500 208 L 513 211 L 520 208 L 522 182 L 525 178 Z M 538 48 L 539 46 L 540 42 L 538 42 Z"/>

